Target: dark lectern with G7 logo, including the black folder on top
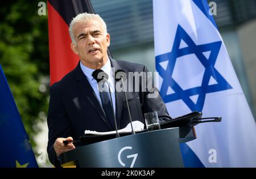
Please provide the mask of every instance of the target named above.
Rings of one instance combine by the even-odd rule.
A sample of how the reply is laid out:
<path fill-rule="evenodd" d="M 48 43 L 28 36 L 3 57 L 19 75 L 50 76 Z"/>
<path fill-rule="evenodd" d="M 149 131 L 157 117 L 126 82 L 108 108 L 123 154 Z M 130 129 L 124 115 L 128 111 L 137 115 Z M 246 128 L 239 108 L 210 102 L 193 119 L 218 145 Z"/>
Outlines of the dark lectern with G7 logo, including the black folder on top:
<path fill-rule="evenodd" d="M 183 167 L 179 143 L 196 139 L 194 126 L 198 123 L 221 121 L 220 117 L 209 120 L 201 116 L 200 112 L 192 112 L 160 123 L 160 130 L 144 130 L 120 138 L 89 137 L 85 146 L 61 154 L 60 164 L 96 168 Z"/>

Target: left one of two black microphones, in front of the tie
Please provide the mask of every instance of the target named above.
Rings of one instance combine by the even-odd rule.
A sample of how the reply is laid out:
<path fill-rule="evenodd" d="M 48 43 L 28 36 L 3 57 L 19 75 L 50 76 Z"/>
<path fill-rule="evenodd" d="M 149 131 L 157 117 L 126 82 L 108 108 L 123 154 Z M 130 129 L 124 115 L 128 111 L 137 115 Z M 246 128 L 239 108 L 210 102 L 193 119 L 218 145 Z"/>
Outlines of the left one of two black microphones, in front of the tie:
<path fill-rule="evenodd" d="M 94 79 L 96 79 L 98 85 L 100 83 L 108 83 L 108 86 L 109 86 L 109 82 L 108 82 L 108 78 L 109 78 L 109 75 L 106 74 L 103 70 L 101 69 L 97 69 L 95 71 L 93 71 L 92 73 L 92 76 Z M 112 95 L 111 95 L 111 92 L 110 92 L 110 86 L 109 86 L 109 95 L 110 95 L 110 103 L 112 105 L 112 113 L 113 113 L 113 116 L 114 116 L 114 123 L 115 123 L 115 131 L 116 131 L 116 137 L 120 137 L 119 133 L 118 133 L 118 130 L 117 130 L 117 120 L 115 118 L 115 113 L 114 113 L 114 108 L 113 108 L 113 101 L 112 101 Z M 109 119 L 110 120 L 110 119 Z"/>

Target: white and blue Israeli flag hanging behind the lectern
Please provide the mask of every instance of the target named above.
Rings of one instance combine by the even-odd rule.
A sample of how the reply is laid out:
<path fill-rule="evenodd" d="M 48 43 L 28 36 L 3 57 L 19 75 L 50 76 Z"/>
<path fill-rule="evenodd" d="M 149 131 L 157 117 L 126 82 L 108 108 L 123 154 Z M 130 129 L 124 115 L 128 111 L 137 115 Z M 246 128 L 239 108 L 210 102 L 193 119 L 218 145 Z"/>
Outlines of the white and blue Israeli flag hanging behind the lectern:
<path fill-rule="evenodd" d="M 196 126 L 181 145 L 185 167 L 256 167 L 256 125 L 205 0 L 153 0 L 160 95 L 172 117 L 194 110 L 218 123 Z"/>

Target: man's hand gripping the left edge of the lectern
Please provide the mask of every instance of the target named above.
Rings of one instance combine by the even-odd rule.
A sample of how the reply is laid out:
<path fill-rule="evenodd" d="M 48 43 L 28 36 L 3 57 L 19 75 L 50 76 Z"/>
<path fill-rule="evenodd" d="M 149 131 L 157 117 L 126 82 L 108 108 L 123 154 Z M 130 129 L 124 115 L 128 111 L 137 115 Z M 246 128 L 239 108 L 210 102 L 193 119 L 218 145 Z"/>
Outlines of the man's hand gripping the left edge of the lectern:
<path fill-rule="evenodd" d="M 53 148 L 54 148 L 54 150 L 56 152 L 57 157 L 59 157 L 60 154 L 62 154 L 64 152 L 67 152 L 67 151 L 70 151 L 70 150 L 73 150 L 73 149 L 76 148 L 73 143 L 69 143 L 69 144 L 65 145 L 63 143 L 64 140 L 73 140 L 73 138 L 72 137 L 57 138 L 55 140 L 55 143 L 53 144 Z"/>

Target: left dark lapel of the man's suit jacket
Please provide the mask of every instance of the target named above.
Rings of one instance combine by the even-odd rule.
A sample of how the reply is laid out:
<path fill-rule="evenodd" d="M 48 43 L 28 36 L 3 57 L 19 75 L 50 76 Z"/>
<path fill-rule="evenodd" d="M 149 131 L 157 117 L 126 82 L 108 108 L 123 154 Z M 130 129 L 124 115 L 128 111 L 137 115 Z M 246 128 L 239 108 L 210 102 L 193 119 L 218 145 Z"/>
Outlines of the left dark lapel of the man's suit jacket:
<path fill-rule="evenodd" d="M 92 87 L 90 86 L 88 79 L 86 78 L 84 73 L 82 73 L 80 62 L 77 65 L 75 71 L 77 85 L 79 86 L 80 90 L 84 93 L 86 99 L 88 99 L 89 103 L 94 107 L 94 109 L 97 110 L 98 114 L 101 116 L 102 120 L 106 123 L 106 125 L 108 125 L 110 129 L 113 129 L 113 127 L 109 123 L 109 120 L 106 118 L 106 114 L 102 109 L 102 106 L 100 105 Z"/>

